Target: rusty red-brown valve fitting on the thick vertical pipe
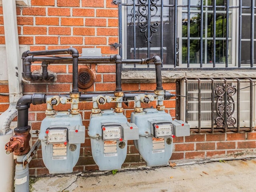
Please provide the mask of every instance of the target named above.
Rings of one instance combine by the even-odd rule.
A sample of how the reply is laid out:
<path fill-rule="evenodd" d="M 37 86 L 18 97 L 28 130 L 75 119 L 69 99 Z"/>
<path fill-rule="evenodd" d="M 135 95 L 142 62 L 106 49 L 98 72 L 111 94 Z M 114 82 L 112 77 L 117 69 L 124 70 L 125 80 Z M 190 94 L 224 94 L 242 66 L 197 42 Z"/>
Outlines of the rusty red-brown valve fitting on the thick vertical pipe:
<path fill-rule="evenodd" d="M 6 154 L 10 154 L 11 152 L 14 155 L 24 155 L 27 154 L 30 150 L 29 140 L 31 135 L 29 133 L 30 126 L 25 130 L 14 129 L 14 136 L 10 138 L 10 141 L 5 144 Z"/>

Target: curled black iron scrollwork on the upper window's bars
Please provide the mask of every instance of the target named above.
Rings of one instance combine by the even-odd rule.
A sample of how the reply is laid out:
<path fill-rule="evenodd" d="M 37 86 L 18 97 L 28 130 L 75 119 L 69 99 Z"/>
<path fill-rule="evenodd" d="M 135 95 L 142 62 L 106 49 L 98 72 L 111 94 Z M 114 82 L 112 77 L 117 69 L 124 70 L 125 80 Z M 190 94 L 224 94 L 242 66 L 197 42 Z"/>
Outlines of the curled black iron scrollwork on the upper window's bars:
<path fill-rule="evenodd" d="M 151 23 L 150 18 L 154 17 L 157 13 L 157 2 L 159 0 L 140 0 L 140 6 L 138 8 L 138 12 L 140 14 L 139 16 L 139 27 L 141 28 L 140 32 L 144 33 L 144 36 L 146 38 L 146 42 L 148 42 L 148 37 L 149 41 L 151 42 L 151 38 L 153 36 L 153 33 L 156 33 L 157 30 L 156 28 L 159 26 L 158 22 Z M 149 5 L 147 4 L 149 2 Z M 150 13 L 148 13 L 148 6 L 150 6 Z M 133 12 L 133 10 L 132 10 Z M 137 20 L 137 13 L 136 13 L 136 18 Z M 149 33 L 148 34 L 148 27 L 149 27 Z"/>

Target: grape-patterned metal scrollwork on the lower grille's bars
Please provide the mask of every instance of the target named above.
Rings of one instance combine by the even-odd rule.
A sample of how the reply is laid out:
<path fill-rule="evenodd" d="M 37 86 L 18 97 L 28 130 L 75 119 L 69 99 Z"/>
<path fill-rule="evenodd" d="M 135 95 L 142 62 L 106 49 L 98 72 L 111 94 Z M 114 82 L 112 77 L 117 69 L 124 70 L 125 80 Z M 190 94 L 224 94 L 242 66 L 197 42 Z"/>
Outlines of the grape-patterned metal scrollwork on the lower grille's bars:
<path fill-rule="evenodd" d="M 227 119 L 227 126 L 234 126 L 236 124 L 236 119 L 232 117 L 235 110 L 235 102 L 232 96 L 236 94 L 236 88 L 234 86 L 227 85 L 227 104 L 226 104 L 226 114 L 225 114 L 225 92 L 226 85 L 217 86 L 215 89 L 215 94 L 218 96 L 216 101 L 216 112 L 217 117 L 215 118 L 215 124 L 218 127 L 225 126 L 225 116 Z"/>

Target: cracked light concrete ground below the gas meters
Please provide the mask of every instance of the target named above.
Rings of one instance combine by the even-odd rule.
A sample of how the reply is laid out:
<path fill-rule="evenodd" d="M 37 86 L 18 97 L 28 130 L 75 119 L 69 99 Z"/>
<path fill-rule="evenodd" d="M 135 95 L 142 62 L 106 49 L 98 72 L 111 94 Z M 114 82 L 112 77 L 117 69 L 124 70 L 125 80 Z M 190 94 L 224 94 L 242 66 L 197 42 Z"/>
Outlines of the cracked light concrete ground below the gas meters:
<path fill-rule="evenodd" d="M 256 159 L 30 178 L 31 192 L 256 192 Z"/>

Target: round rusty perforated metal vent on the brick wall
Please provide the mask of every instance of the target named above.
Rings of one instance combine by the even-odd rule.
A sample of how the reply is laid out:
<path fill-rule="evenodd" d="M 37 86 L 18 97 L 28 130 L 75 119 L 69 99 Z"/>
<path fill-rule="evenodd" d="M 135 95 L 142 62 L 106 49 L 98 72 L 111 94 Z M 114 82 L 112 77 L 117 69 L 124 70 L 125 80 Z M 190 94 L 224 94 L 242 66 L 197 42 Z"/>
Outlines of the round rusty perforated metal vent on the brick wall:
<path fill-rule="evenodd" d="M 94 82 L 94 74 L 88 68 L 81 68 L 78 72 L 78 87 L 87 89 L 92 86 Z"/>

